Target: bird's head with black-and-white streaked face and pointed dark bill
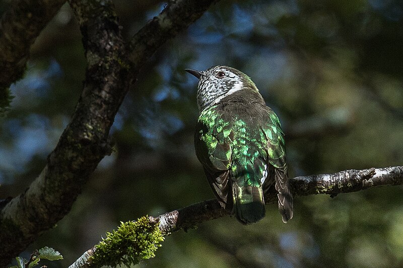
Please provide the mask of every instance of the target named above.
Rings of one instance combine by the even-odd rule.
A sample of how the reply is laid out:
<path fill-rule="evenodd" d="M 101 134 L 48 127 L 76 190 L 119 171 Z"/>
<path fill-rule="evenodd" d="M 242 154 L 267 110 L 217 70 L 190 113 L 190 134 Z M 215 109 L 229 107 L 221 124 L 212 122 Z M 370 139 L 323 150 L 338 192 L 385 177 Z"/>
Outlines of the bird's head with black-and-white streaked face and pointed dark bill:
<path fill-rule="evenodd" d="M 249 76 L 228 66 L 213 66 L 205 71 L 185 70 L 199 79 L 197 106 L 200 112 L 234 92 L 245 89 L 258 92 Z"/>

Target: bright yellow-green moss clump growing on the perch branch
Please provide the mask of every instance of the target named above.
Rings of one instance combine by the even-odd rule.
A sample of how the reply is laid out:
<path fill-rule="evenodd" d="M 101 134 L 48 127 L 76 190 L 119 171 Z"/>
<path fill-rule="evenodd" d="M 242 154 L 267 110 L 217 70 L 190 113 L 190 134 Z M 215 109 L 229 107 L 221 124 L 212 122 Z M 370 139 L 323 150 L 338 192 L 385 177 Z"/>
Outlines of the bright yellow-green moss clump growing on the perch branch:
<path fill-rule="evenodd" d="M 155 257 L 163 240 L 158 224 L 150 223 L 147 216 L 137 221 L 120 222 L 116 231 L 108 232 L 106 238 L 96 245 L 91 261 L 97 267 L 138 264 Z"/>

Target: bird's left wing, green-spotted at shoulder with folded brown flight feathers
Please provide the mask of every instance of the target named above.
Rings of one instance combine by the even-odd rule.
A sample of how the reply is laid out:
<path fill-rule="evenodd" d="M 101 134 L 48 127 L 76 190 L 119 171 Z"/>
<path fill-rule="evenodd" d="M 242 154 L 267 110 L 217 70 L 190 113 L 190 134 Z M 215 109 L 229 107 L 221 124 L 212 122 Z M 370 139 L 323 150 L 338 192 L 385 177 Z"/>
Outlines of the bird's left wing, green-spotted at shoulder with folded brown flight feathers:
<path fill-rule="evenodd" d="M 230 122 L 224 122 L 219 115 L 209 117 L 200 115 L 194 135 L 196 155 L 203 165 L 213 192 L 226 209 L 229 209 L 227 200 L 231 195 L 228 180 L 233 138 Z"/>

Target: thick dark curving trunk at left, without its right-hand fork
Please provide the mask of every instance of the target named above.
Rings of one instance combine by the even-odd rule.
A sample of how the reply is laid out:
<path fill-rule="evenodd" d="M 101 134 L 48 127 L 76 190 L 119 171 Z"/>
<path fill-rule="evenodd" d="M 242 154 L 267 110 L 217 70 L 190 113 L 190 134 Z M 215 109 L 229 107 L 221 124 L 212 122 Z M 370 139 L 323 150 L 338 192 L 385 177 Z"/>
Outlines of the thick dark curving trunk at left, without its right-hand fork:
<path fill-rule="evenodd" d="M 97 7 L 103 16 L 87 7 L 93 17 L 81 26 L 90 62 L 83 93 L 41 175 L 0 213 L 0 266 L 70 211 L 82 185 L 111 151 L 109 128 L 128 88 L 128 70 L 118 63 L 124 46 L 110 6 Z"/>

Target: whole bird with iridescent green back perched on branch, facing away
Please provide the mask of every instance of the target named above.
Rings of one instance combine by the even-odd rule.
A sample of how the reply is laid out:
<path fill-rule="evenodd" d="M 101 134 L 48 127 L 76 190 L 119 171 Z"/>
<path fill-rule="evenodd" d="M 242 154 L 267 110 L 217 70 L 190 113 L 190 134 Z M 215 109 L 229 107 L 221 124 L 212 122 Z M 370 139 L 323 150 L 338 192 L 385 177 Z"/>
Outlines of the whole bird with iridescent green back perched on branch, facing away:
<path fill-rule="evenodd" d="M 194 147 L 221 206 L 242 224 L 265 216 L 264 195 L 275 187 L 284 223 L 293 217 L 280 120 L 255 83 L 228 66 L 185 69 L 198 78 Z"/>

